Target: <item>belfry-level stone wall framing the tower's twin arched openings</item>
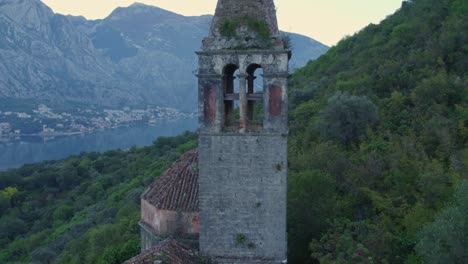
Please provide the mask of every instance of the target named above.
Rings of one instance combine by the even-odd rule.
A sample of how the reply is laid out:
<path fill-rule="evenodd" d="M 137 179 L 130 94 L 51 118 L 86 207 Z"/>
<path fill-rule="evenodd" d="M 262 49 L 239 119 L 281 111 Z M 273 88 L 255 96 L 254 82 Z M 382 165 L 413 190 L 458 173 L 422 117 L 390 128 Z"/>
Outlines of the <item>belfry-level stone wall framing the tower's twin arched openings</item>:
<path fill-rule="evenodd" d="M 221 132 L 224 123 L 223 70 L 226 65 L 247 73 L 249 65 L 263 69 L 264 132 L 287 133 L 288 51 L 199 52 L 199 124 L 202 132 Z M 274 91 L 271 93 L 271 91 Z"/>

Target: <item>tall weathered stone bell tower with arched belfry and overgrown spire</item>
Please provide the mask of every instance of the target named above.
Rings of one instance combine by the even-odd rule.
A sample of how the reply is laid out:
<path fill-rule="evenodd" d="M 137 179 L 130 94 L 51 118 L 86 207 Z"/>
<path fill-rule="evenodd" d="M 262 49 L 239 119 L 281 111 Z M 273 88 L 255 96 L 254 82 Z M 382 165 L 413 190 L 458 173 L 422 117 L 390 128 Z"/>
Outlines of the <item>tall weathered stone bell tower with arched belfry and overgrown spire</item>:
<path fill-rule="evenodd" d="M 273 0 L 218 0 L 197 54 L 200 252 L 286 263 L 291 53 Z"/>

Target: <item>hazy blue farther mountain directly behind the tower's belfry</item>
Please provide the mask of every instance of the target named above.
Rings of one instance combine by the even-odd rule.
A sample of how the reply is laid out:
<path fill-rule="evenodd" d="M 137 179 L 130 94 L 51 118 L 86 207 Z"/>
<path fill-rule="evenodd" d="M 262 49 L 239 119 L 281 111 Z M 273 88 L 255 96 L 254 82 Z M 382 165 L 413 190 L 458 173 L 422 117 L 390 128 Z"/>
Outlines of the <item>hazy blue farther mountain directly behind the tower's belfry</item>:
<path fill-rule="evenodd" d="M 122 76 L 144 84 L 144 93 L 163 97 L 167 106 L 195 109 L 197 96 L 195 51 L 200 49 L 212 20 L 211 15 L 185 17 L 154 6 L 135 3 L 117 8 L 107 18 L 74 24 L 110 58 Z M 308 37 L 290 35 L 294 68 L 305 65 L 328 50 Z"/>

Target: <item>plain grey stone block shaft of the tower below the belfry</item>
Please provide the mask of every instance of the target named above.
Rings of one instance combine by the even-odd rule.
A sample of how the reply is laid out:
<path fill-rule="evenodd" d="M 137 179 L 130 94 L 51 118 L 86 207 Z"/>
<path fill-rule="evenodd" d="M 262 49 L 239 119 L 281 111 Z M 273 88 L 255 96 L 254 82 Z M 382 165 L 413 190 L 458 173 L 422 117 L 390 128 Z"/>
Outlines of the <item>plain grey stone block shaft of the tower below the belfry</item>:
<path fill-rule="evenodd" d="M 218 263 L 286 259 L 287 137 L 201 133 L 200 250 Z"/>

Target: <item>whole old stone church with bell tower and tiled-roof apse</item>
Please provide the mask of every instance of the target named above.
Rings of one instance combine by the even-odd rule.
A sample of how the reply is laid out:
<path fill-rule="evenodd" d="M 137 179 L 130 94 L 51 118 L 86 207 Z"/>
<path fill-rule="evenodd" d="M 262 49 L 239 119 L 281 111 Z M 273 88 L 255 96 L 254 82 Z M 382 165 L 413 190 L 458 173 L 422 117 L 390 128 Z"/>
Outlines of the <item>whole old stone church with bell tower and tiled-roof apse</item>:
<path fill-rule="evenodd" d="M 273 0 L 218 0 L 197 52 L 199 144 L 141 197 L 126 263 L 287 263 L 287 77 Z"/>

